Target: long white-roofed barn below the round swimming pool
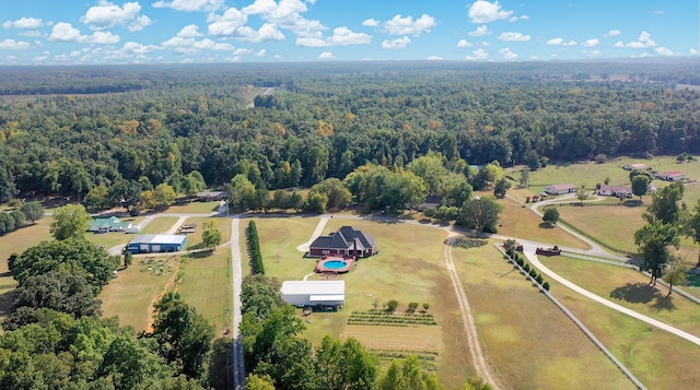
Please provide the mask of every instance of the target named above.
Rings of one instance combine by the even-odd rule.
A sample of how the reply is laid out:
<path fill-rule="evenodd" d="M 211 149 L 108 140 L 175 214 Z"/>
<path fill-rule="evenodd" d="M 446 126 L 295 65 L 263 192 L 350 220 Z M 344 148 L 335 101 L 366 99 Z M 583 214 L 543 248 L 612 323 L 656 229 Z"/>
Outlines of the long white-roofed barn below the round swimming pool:
<path fill-rule="evenodd" d="M 346 281 L 285 281 L 282 300 L 298 307 L 341 306 L 346 303 Z"/>

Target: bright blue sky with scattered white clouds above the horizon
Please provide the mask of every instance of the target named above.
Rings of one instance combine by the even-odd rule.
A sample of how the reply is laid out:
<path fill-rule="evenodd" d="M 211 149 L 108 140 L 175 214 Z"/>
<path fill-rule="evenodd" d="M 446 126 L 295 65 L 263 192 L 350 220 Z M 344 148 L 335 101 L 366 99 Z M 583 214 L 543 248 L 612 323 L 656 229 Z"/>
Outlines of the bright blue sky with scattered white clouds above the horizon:
<path fill-rule="evenodd" d="M 0 64 L 698 57 L 696 0 L 10 0 Z"/>

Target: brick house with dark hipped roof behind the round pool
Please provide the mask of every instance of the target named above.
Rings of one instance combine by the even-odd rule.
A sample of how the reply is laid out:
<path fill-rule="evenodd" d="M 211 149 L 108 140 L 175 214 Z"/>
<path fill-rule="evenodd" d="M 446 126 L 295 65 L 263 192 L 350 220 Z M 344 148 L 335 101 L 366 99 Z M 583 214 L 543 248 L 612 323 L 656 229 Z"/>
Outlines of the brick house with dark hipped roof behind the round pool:
<path fill-rule="evenodd" d="M 315 257 L 366 258 L 375 253 L 376 239 L 352 226 L 342 226 L 338 232 L 319 236 L 308 247 L 308 255 Z"/>

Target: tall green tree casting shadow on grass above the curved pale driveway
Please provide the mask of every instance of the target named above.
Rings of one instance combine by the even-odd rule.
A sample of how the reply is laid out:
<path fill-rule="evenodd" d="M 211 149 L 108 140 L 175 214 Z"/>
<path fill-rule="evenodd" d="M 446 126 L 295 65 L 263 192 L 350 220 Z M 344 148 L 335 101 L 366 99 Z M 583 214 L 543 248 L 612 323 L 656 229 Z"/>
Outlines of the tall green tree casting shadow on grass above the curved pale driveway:
<path fill-rule="evenodd" d="M 656 285 L 656 279 L 662 275 L 664 265 L 670 259 L 668 247 L 678 248 L 678 229 L 662 221 L 653 221 L 634 232 L 634 244 L 642 253 L 640 271 L 649 271 L 651 273 L 649 284 Z"/>

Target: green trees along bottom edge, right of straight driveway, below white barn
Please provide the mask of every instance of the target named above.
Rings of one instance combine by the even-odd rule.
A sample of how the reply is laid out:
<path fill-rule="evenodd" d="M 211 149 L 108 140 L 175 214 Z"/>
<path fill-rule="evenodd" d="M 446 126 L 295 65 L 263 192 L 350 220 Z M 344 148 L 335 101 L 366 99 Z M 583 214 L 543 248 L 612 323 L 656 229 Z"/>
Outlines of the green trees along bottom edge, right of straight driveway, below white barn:
<path fill-rule="evenodd" d="M 416 356 L 394 361 L 382 373 L 378 358 L 358 340 L 325 336 L 312 347 L 301 338 L 304 323 L 279 295 L 279 282 L 264 275 L 246 276 L 241 293 L 241 324 L 246 389 L 444 389 Z M 488 390 L 469 379 L 465 390 Z"/>

